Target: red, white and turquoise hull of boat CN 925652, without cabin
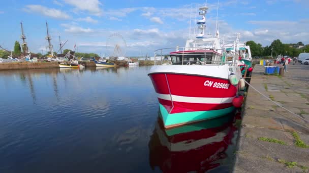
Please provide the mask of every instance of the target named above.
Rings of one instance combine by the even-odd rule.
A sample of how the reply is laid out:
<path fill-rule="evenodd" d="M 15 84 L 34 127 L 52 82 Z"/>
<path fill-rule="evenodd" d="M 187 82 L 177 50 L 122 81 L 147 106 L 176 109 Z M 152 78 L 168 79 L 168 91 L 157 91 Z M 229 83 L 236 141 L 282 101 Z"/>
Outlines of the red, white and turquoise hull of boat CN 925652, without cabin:
<path fill-rule="evenodd" d="M 174 72 L 171 69 L 173 66 L 175 65 L 157 66 L 154 68 L 162 68 L 162 72 L 155 69 L 148 74 L 158 95 L 166 128 L 216 118 L 235 110 L 232 100 L 237 89 L 228 79 L 229 66 L 205 66 L 202 68 L 208 69 L 197 69 L 198 72 L 191 68 L 201 66 L 191 66 L 189 69 L 183 67 L 182 70 L 176 67 Z M 220 74 L 214 74 L 213 70 Z M 235 67 L 236 70 L 240 76 L 239 67 Z"/>

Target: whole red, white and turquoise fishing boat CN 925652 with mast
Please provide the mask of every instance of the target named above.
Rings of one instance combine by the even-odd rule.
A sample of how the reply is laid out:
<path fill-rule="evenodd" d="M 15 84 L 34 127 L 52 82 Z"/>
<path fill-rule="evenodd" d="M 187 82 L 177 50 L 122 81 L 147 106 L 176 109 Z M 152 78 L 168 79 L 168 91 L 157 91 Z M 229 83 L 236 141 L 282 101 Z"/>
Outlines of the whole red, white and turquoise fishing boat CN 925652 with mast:
<path fill-rule="evenodd" d="M 206 37 L 207 7 L 201 7 L 199 33 L 186 42 L 186 47 L 161 49 L 172 65 L 153 66 L 148 76 L 158 94 L 160 111 L 166 128 L 215 118 L 234 110 L 241 79 L 237 58 L 226 59 L 219 31 Z M 237 47 L 237 43 L 235 42 Z M 236 56 L 236 55 L 235 55 Z"/>

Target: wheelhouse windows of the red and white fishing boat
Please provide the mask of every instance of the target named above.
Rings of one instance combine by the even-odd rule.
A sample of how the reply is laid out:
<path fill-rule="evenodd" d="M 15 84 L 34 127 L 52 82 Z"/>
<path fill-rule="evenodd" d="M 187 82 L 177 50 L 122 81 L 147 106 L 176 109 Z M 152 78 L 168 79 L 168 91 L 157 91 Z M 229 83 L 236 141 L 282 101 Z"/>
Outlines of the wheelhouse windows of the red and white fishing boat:
<path fill-rule="evenodd" d="M 205 55 L 205 54 L 179 54 L 179 55 L 170 55 L 172 63 L 174 65 L 182 65 L 182 58 L 183 64 L 199 64 L 198 61 L 206 62 L 206 64 L 211 64 L 213 60 L 212 55 Z"/>

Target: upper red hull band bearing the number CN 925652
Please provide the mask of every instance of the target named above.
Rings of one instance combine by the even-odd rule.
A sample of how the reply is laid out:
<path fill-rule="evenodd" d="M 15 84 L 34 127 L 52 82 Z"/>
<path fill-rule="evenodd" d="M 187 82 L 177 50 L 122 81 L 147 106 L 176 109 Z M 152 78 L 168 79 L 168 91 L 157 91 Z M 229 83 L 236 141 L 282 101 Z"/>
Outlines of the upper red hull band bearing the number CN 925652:
<path fill-rule="evenodd" d="M 170 94 L 165 74 L 149 74 L 158 94 Z M 227 79 L 186 74 L 166 74 L 172 95 L 184 97 L 227 98 L 236 96 L 236 88 Z M 206 85 L 207 82 L 211 85 Z M 215 83 L 229 84 L 228 89 L 215 88 Z M 208 83 L 209 84 L 209 83 Z"/>

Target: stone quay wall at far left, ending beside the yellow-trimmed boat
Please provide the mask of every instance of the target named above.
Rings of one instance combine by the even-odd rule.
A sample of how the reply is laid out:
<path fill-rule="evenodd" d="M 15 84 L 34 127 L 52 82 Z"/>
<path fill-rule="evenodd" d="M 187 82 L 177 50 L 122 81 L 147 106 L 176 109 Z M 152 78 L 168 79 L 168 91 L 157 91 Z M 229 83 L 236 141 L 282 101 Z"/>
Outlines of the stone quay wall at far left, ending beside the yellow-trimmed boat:
<path fill-rule="evenodd" d="M 59 68 L 57 62 L 11 62 L 0 63 L 0 70 L 18 70 L 18 69 L 37 69 L 37 68 Z"/>

